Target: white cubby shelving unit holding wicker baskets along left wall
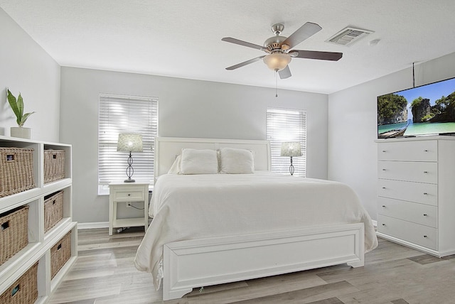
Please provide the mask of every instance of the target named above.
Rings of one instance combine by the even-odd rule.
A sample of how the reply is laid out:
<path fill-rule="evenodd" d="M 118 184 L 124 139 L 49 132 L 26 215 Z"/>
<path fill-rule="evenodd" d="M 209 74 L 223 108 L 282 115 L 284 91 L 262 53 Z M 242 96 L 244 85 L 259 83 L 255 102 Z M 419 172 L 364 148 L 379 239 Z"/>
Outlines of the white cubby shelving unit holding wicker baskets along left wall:
<path fill-rule="evenodd" d="M 0 265 L 0 294 L 4 293 L 28 268 L 38 263 L 38 299 L 36 303 L 46 303 L 58 288 L 71 266 L 77 259 L 77 222 L 73 222 L 72 208 L 72 168 L 71 146 L 64 143 L 48 143 L 31 139 L 0 136 L 1 147 L 33 148 L 33 174 L 36 188 L 0 197 L 0 214 L 16 207 L 28 205 L 28 245 L 11 259 Z M 44 150 L 65 151 L 65 178 L 44 184 Z M 44 232 L 44 197 L 63 191 L 63 219 Z M 71 233 L 71 257 L 51 279 L 50 248 L 65 234 Z"/>

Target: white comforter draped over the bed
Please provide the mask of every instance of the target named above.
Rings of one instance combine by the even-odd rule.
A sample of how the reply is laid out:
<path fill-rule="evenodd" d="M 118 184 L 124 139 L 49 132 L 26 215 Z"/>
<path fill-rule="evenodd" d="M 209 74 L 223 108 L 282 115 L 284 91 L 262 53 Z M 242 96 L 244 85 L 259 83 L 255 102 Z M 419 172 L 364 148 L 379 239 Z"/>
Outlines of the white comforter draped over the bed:
<path fill-rule="evenodd" d="M 343 183 L 257 171 L 254 174 L 162 175 L 151 199 L 154 216 L 134 259 L 161 283 L 163 245 L 171 241 L 365 224 L 365 252 L 378 246 L 370 216 Z"/>

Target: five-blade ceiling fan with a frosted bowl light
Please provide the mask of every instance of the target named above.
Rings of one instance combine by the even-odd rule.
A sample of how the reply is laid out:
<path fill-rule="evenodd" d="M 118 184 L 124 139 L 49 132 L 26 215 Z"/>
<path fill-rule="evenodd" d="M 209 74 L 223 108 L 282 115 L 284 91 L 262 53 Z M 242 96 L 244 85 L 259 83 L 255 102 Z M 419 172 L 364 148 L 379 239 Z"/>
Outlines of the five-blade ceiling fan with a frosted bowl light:
<path fill-rule="evenodd" d="M 291 36 L 284 37 L 279 36 L 279 34 L 281 34 L 284 30 L 284 25 L 277 23 L 272 26 L 272 32 L 276 36 L 265 40 L 264 46 L 245 42 L 231 37 L 225 37 L 221 40 L 247 46 L 248 48 L 263 50 L 268 54 L 247 60 L 243 63 L 238 63 L 237 65 L 232 65 L 231 67 L 226 67 L 226 70 L 235 70 L 238 67 L 243 67 L 262 59 L 264 60 L 264 63 L 267 65 L 267 67 L 274 70 L 275 72 L 278 72 L 281 79 L 285 79 L 291 77 L 291 70 L 289 70 L 288 66 L 288 64 L 291 62 L 291 58 L 308 58 L 333 61 L 339 60 L 343 56 L 343 53 L 321 52 L 316 50 L 291 50 L 291 48 L 294 48 L 294 46 L 298 45 L 306 38 L 309 38 L 315 33 L 321 31 L 321 29 L 321 26 L 318 24 L 307 22 L 297 31 L 292 33 Z"/>

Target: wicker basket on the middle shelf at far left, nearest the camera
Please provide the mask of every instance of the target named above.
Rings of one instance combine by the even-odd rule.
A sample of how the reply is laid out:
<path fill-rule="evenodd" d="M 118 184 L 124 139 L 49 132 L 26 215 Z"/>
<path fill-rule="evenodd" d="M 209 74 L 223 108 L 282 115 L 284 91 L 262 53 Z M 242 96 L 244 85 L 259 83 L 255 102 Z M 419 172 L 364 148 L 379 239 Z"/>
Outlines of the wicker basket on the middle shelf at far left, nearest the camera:
<path fill-rule="evenodd" d="M 0 215 L 0 265 L 27 246 L 27 230 L 28 206 Z"/>

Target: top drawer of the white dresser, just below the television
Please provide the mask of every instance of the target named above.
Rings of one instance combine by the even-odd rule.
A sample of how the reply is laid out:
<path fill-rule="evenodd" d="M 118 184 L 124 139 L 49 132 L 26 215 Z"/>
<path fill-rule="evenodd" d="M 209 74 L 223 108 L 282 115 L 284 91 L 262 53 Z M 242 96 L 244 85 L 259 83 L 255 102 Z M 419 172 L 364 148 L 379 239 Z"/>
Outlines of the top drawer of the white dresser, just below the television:
<path fill-rule="evenodd" d="M 378 143 L 379 161 L 437 161 L 437 141 Z"/>

